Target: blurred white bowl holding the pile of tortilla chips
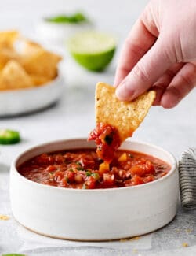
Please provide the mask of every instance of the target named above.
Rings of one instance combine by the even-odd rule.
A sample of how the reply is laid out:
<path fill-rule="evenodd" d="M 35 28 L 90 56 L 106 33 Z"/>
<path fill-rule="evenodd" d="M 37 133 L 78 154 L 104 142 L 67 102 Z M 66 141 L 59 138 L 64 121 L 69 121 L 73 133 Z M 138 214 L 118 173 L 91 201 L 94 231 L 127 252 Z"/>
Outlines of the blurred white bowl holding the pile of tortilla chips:
<path fill-rule="evenodd" d="M 13 116 L 44 109 L 62 95 L 64 79 L 59 75 L 38 87 L 0 91 L 0 117 Z"/>

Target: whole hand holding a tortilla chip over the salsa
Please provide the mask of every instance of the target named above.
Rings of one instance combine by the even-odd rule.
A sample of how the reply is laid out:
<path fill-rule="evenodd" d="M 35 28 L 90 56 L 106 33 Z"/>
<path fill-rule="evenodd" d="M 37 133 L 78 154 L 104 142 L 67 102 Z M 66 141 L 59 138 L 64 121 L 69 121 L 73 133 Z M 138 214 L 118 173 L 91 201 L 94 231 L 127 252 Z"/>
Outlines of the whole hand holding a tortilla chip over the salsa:
<path fill-rule="evenodd" d="M 196 83 L 196 1 L 152 0 L 134 24 L 118 63 L 114 86 L 121 100 L 148 89 L 154 105 L 176 106 Z"/>

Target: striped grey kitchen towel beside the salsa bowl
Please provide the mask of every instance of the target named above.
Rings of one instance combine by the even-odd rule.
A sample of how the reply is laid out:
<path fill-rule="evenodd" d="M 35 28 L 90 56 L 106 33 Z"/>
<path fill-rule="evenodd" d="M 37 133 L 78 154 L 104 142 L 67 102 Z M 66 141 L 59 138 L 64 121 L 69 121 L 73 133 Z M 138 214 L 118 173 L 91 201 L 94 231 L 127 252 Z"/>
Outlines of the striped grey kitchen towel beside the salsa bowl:
<path fill-rule="evenodd" d="M 196 208 L 196 147 L 189 148 L 180 156 L 180 197 L 184 209 Z"/>

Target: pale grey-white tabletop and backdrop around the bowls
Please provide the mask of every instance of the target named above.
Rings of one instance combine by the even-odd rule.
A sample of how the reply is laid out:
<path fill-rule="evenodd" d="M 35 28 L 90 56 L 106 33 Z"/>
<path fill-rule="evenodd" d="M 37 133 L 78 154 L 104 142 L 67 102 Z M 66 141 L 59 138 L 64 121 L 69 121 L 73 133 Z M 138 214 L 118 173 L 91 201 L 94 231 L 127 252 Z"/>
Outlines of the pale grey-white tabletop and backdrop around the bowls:
<path fill-rule="evenodd" d="M 118 59 L 119 49 L 126 33 L 139 15 L 147 1 L 27 1 L 7 0 L 0 2 L 0 29 L 20 28 L 25 35 L 40 39 L 34 32 L 38 19 L 47 13 L 60 10 L 85 9 L 96 22 L 98 28 L 113 32 L 118 36 L 119 47 L 109 69 L 103 73 L 90 73 L 74 64 L 64 47 L 45 45 L 64 55 L 61 64 L 64 74 L 64 94 L 60 101 L 45 111 L 32 113 L 22 117 L 0 119 L 0 128 L 19 130 L 22 142 L 14 146 L 0 147 L 0 214 L 10 214 L 9 206 L 9 165 L 12 159 L 22 150 L 37 143 L 71 137 L 86 137 L 94 126 L 94 88 L 98 81 L 113 83 L 114 69 Z M 112 6 L 112 8 L 111 8 Z M 120 12 L 119 12 L 120 9 Z M 196 143 L 196 91 L 174 109 L 152 107 L 147 118 L 133 135 L 133 139 L 154 143 L 169 150 L 179 158 L 187 147 L 195 147 Z M 14 102 L 13 102 L 14 104 Z M 6 212 L 1 212 L 1 210 Z M 12 219 L 6 224 L 0 221 L 0 253 L 20 251 L 20 243 L 9 239 L 13 232 L 9 229 Z M 5 230 L 2 234 L 1 230 Z M 196 254 L 196 211 L 185 212 L 179 207 L 177 217 L 167 227 L 151 235 L 151 248 L 140 250 L 138 242 L 136 250 L 130 248 L 98 248 L 98 247 L 50 247 L 26 251 L 28 255 L 195 255 Z M 187 232 L 188 230 L 191 232 Z M 15 233 L 14 233 L 15 234 Z M 5 236 L 4 236 L 5 235 Z M 7 240 L 8 239 L 8 240 Z M 38 241 L 41 239 L 37 236 Z M 182 243 L 189 247 L 183 248 Z"/>

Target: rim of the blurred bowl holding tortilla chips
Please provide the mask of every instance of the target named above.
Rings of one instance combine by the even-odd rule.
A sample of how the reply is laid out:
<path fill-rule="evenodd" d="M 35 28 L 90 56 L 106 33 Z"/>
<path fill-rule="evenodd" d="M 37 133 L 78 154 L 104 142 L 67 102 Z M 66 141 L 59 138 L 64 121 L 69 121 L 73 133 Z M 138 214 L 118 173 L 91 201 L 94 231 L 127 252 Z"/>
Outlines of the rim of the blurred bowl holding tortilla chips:
<path fill-rule="evenodd" d="M 0 90 L 0 97 L 3 97 L 5 95 L 10 95 L 10 94 L 20 94 L 20 93 L 24 93 L 24 92 L 31 92 L 31 91 L 38 91 L 38 90 L 42 90 L 43 87 L 48 87 L 48 86 L 54 86 L 56 85 L 56 82 L 58 82 L 59 80 L 63 79 L 63 75 L 60 72 L 60 69 L 57 68 L 57 76 L 53 79 L 53 80 L 49 80 L 48 83 L 43 83 L 41 85 L 38 86 L 33 86 L 33 87 L 26 87 L 26 88 L 18 88 L 18 89 L 13 89 L 13 90 Z"/>

